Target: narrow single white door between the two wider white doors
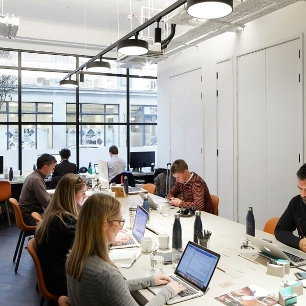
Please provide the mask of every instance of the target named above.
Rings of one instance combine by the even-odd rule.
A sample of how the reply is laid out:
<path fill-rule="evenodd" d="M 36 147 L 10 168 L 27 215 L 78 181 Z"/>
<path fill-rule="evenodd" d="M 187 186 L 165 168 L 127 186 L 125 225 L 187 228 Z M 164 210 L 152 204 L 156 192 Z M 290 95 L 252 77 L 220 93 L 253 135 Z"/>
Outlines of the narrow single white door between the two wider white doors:
<path fill-rule="evenodd" d="M 234 220 L 233 66 L 217 63 L 217 191 L 219 216 Z"/>

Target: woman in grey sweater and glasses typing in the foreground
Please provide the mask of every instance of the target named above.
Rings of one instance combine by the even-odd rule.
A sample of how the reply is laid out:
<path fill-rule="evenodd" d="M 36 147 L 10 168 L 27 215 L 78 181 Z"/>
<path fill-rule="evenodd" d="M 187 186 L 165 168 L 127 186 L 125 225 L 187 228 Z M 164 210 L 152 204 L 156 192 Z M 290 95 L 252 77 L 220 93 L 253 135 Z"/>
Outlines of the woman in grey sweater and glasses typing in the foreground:
<path fill-rule="evenodd" d="M 114 197 L 93 194 L 79 214 L 76 236 L 66 261 L 68 298 L 71 306 L 138 306 L 131 291 L 167 284 L 147 305 L 164 305 L 184 286 L 169 276 L 156 274 L 125 280 L 109 259 L 111 244 L 125 220 Z"/>

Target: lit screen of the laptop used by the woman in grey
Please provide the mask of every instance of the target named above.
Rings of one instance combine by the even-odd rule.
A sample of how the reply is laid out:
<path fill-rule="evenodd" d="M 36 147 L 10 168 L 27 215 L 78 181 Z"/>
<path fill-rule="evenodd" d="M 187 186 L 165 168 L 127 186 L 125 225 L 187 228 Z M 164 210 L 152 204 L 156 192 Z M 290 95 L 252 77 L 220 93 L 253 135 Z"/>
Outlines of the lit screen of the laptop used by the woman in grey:
<path fill-rule="evenodd" d="M 189 241 L 175 274 L 204 291 L 213 276 L 220 255 Z"/>

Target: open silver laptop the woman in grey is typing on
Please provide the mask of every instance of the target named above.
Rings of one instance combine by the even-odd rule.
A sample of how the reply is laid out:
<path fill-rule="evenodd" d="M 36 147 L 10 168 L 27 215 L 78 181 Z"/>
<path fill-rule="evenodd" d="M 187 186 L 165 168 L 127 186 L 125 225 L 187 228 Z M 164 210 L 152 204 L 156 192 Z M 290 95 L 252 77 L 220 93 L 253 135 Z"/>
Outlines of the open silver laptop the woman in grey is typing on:
<path fill-rule="evenodd" d="M 174 281 L 182 283 L 186 289 L 166 304 L 172 305 L 204 295 L 219 259 L 219 254 L 189 241 L 174 274 L 169 275 Z M 163 286 L 153 286 L 149 287 L 149 290 L 157 294 L 162 288 Z"/>

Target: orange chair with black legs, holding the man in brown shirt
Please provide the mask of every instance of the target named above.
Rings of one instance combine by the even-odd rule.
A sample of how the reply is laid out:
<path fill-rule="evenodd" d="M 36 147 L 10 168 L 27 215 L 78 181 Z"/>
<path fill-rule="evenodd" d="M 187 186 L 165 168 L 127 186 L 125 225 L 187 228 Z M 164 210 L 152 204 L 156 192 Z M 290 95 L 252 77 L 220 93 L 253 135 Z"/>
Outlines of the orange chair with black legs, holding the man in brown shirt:
<path fill-rule="evenodd" d="M 11 197 L 9 199 L 9 202 L 12 204 L 12 206 L 14 208 L 16 224 L 17 224 L 17 227 L 20 229 L 20 235 L 19 235 L 19 238 L 18 238 L 15 254 L 14 254 L 14 257 L 13 257 L 13 262 L 15 262 L 17 252 L 18 252 L 18 248 L 19 248 L 18 258 L 17 258 L 17 262 L 16 262 L 16 266 L 15 266 L 15 273 L 17 273 L 20 258 L 21 258 L 21 254 L 22 254 L 24 239 L 27 236 L 34 235 L 36 225 L 35 226 L 29 226 L 29 225 L 26 225 L 24 223 L 23 218 L 22 218 L 22 213 L 21 213 L 20 207 L 19 207 L 16 199 Z"/>

